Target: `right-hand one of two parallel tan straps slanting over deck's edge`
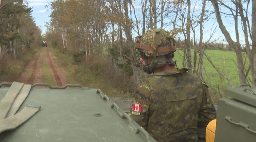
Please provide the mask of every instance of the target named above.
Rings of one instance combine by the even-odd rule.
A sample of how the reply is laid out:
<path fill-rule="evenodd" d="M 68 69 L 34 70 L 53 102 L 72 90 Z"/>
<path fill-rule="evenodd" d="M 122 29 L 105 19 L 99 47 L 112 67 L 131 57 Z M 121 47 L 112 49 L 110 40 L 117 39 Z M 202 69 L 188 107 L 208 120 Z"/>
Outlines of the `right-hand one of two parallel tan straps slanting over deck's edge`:
<path fill-rule="evenodd" d="M 6 118 L 9 118 L 10 116 L 14 115 L 18 111 L 21 104 L 25 101 L 25 99 L 29 95 L 31 86 L 32 85 L 30 84 L 23 85 L 23 87 L 20 90 L 20 93 L 17 95 L 16 99 L 12 103 L 11 109 L 9 110 Z"/>

